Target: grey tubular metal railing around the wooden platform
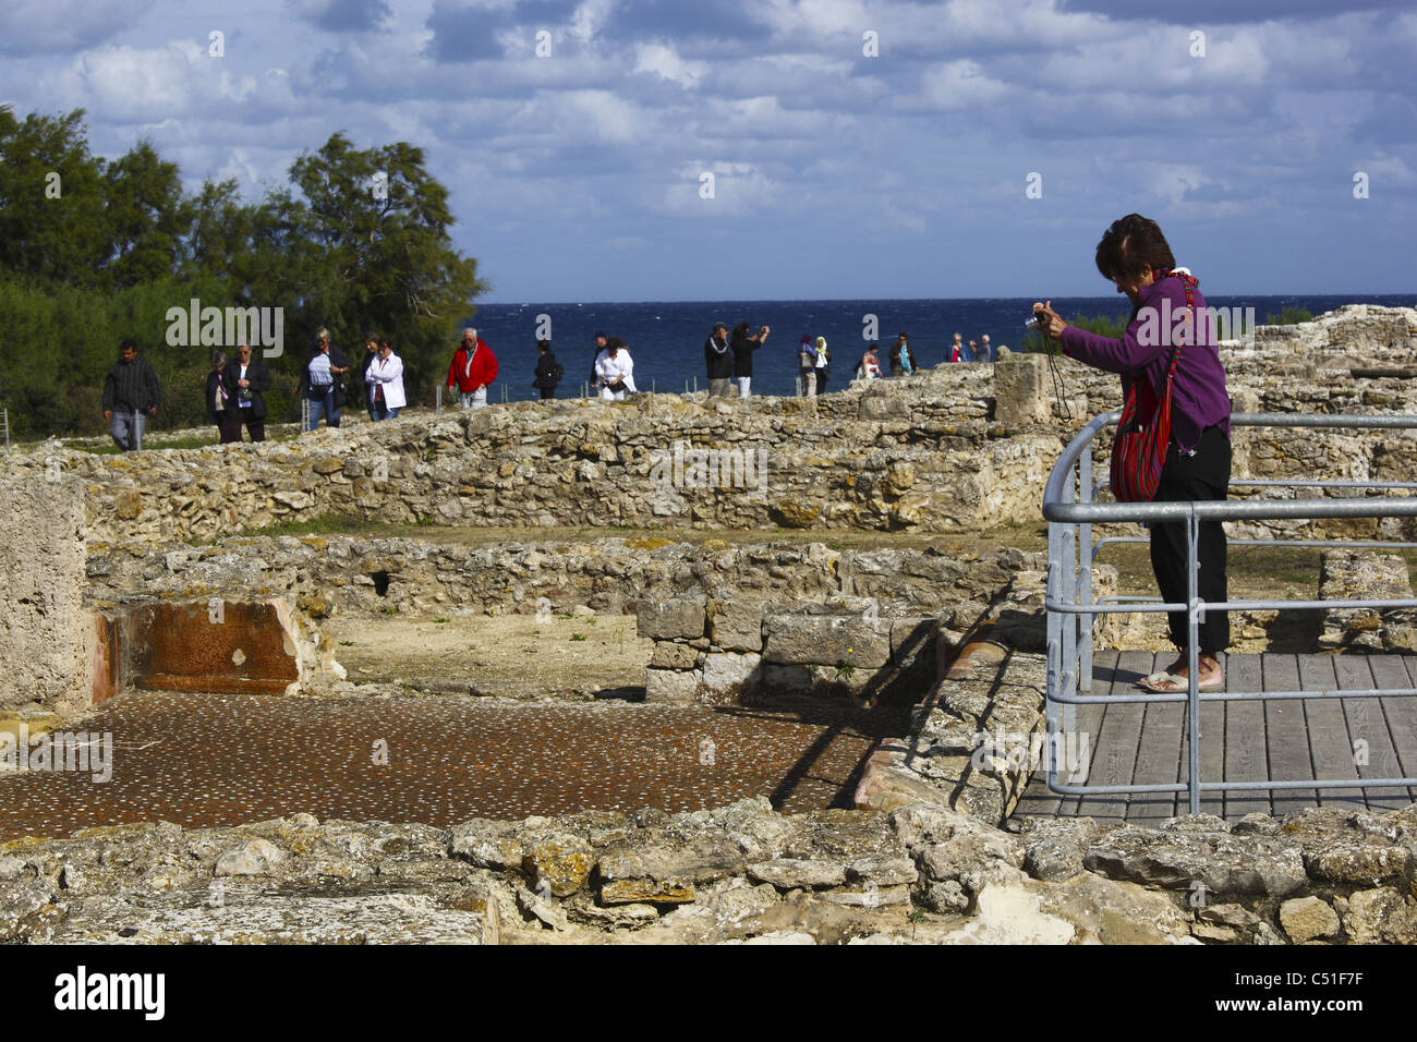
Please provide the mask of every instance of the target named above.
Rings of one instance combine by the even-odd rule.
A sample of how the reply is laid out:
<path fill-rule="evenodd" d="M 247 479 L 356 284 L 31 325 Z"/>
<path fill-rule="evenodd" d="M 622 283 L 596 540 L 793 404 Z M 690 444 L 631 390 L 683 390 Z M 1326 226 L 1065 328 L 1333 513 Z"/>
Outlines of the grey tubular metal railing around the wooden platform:
<path fill-rule="evenodd" d="M 1197 688 L 1199 627 L 1206 611 L 1284 611 L 1315 608 L 1417 608 L 1417 600 L 1227 600 L 1206 603 L 1197 593 L 1199 563 L 1196 540 L 1200 522 L 1319 520 L 1352 517 L 1417 517 L 1417 495 L 1363 495 L 1373 492 L 1417 491 L 1417 482 L 1321 481 L 1321 479 L 1231 479 L 1230 488 L 1314 488 L 1348 491 L 1346 498 L 1329 499 L 1224 499 L 1166 503 L 1095 502 L 1107 488 L 1105 476 L 1094 483 L 1093 439 L 1117 422 L 1121 413 L 1097 417 L 1073 438 L 1054 464 L 1043 492 L 1043 516 L 1049 522 L 1047 578 L 1047 743 L 1044 749 L 1063 747 L 1066 734 L 1076 730 L 1076 706 L 1128 702 L 1185 702 L 1187 736 L 1186 780 L 1175 784 L 1105 784 L 1087 785 L 1060 778 L 1058 757 L 1047 760 L 1047 784 L 1066 795 L 1110 795 L 1122 792 L 1186 792 L 1190 812 L 1200 811 L 1202 792 L 1287 788 L 1386 788 L 1417 785 L 1417 778 L 1272 778 L 1264 781 L 1207 781 L 1200 773 L 1200 705 L 1203 702 L 1246 702 L 1270 699 L 1345 699 L 1414 696 L 1413 688 L 1280 690 L 1280 692 L 1202 692 Z M 1349 430 L 1411 430 L 1417 415 L 1299 415 L 1287 413 L 1237 413 L 1231 427 L 1304 427 Z M 1148 542 L 1136 536 L 1114 536 L 1094 542 L 1093 527 L 1124 522 L 1178 522 L 1186 525 L 1186 603 L 1162 603 L 1156 597 L 1104 597 L 1093 593 L 1093 563 L 1108 543 Z M 1301 547 L 1414 547 L 1417 543 L 1359 539 L 1231 539 L 1230 546 L 1301 546 Z M 1080 550 L 1087 549 L 1087 560 Z M 1185 611 L 1187 627 L 1187 689 L 1185 693 L 1153 693 L 1138 689 L 1128 695 L 1093 695 L 1093 624 L 1112 612 Z"/>

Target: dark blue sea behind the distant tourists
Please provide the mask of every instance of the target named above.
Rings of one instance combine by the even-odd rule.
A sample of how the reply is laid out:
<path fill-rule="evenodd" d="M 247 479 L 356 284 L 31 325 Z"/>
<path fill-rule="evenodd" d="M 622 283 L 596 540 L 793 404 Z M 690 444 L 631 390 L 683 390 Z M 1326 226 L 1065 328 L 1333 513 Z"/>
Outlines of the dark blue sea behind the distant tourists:
<path fill-rule="evenodd" d="M 796 393 L 796 349 L 806 333 L 825 336 L 832 352 L 832 381 L 840 390 L 866 350 L 864 333 L 880 344 L 881 370 L 897 333 L 907 333 L 915 360 L 930 367 L 948 360 L 954 333 L 965 343 L 983 333 L 998 347 L 1017 347 L 1034 298 L 978 298 L 924 301 L 635 301 L 605 303 L 485 303 L 470 319 L 478 335 L 497 356 L 497 381 L 490 401 L 540 397 L 531 386 L 536 342 L 551 340 L 551 350 L 565 367 L 557 387 L 558 398 L 580 397 L 595 360 L 594 336 L 604 330 L 629 343 L 635 363 L 635 384 L 642 391 L 682 393 L 706 390 L 703 344 L 716 322 L 730 329 L 738 322 L 772 327 L 767 344 L 754 354 L 754 394 Z M 1301 308 L 1318 316 L 1345 303 L 1379 303 L 1389 308 L 1417 306 L 1417 295 L 1339 296 L 1207 296 L 1212 308 L 1254 308 L 1258 322 L 1285 308 Z M 1064 319 L 1076 316 L 1127 318 L 1125 298 L 1054 298 L 1053 308 Z M 1243 312 L 1241 312 L 1243 313 Z M 874 322 L 871 322 L 874 319 Z M 449 356 L 453 344 L 449 344 Z"/>

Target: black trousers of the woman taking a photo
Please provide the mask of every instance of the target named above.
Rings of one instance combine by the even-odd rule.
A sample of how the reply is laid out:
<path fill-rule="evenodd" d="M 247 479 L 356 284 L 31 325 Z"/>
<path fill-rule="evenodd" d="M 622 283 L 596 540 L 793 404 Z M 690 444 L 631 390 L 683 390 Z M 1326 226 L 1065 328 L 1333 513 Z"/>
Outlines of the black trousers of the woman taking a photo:
<path fill-rule="evenodd" d="M 1230 438 L 1219 427 L 1207 427 L 1200 435 L 1195 455 L 1186 455 L 1176 442 L 1166 451 L 1161 483 L 1155 502 L 1195 499 L 1224 499 L 1230 488 Z M 1170 522 L 1152 525 L 1152 571 L 1162 600 L 1185 603 L 1186 583 L 1186 525 Z M 1229 598 L 1226 581 L 1226 530 L 1220 522 L 1202 522 L 1196 556 L 1200 564 L 1197 593 L 1200 600 L 1213 603 Z M 1166 614 L 1170 639 L 1182 651 L 1187 649 L 1186 612 Z M 1230 612 L 1206 611 L 1200 624 L 1200 655 L 1216 655 L 1230 646 Z"/>

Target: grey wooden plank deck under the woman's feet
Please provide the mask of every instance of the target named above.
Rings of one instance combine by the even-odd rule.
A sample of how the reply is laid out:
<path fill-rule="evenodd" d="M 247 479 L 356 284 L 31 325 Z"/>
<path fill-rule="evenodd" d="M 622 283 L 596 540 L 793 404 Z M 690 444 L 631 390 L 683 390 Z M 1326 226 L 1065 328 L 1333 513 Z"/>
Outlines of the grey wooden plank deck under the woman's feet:
<path fill-rule="evenodd" d="M 1101 652 L 1094 658 L 1094 695 L 1135 692 L 1136 680 L 1163 669 L 1170 652 Z M 1229 690 L 1417 689 L 1417 656 L 1407 655 L 1226 655 Z M 1139 702 L 1076 706 L 1077 730 L 1090 740 L 1090 785 L 1186 780 L 1189 743 L 1185 703 Z M 1355 749 L 1366 743 L 1367 763 Z M 1212 702 L 1200 707 L 1203 781 L 1417 777 L 1417 696 L 1386 699 L 1294 699 Z M 1200 809 L 1227 819 L 1260 811 L 1282 817 L 1304 807 L 1389 811 L 1417 801 L 1408 788 L 1254 790 L 1212 792 Z M 1036 773 L 1016 817 L 1087 815 L 1100 821 L 1156 825 L 1187 811 L 1185 792 L 1064 797 Z"/>

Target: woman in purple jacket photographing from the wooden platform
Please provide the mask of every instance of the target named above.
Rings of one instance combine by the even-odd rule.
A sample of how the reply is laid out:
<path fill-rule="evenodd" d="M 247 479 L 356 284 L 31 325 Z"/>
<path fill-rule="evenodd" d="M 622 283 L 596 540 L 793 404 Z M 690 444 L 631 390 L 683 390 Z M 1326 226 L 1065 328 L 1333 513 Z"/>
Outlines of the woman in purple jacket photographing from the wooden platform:
<path fill-rule="evenodd" d="M 1138 384 L 1138 421 L 1149 425 L 1166 390 L 1173 333 L 1183 336 L 1170 398 L 1170 447 L 1156 488 L 1156 502 L 1224 499 L 1230 486 L 1230 396 L 1226 370 L 1216 350 L 1214 330 L 1206 318 L 1206 301 L 1186 268 L 1176 268 L 1166 237 L 1155 221 L 1128 214 L 1114 221 L 1097 244 L 1097 269 L 1132 302 L 1132 318 L 1121 340 L 1068 326 L 1049 303 L 1036 303 L 1039 326 L 1061 340 L 1071 359 L 1119 373 L 1122 391 Z M 1192 286 L 1195 315 L 1187 322 L 1186 285 Z M 1226 533 L 1220 522 L 1202 522 L 1197 544 L 1200 576 L 1197 593 L 1207 604 L 1227 600 Z M 1185 603 L 1186 526 L 1180 522 L 1151 526 L 1152 571 L 1162 600 Z M 1148 690 L 1186 689 L 1186 612 L 1172 611 L 1170 639 L 1180 649 L 1163 673 L 1141 682 Z M 1212 690 L 1224 685 L 1216 658 L 1230 645 L 1230 615 L 1207 611 L 1199 629 L 1199 686 Z"/>

